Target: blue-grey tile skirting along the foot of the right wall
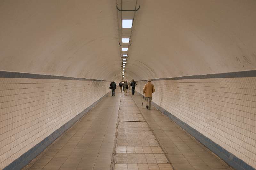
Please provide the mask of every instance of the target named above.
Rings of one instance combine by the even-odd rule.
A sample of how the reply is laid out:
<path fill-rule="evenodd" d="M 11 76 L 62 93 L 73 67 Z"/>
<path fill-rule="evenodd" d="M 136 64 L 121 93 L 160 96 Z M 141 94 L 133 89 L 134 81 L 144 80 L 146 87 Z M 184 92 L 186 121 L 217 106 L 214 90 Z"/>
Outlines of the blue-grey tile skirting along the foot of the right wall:
<path fill-rule="evenodd" d="M 140 94 L 138 92 L 138 94 Z M 140 94 L 142 97 L 143 95 Z M 213 153 L 218 155 L 223 161 L 225 161 L 228 165 L 236 170 L 255 170 L 252 166 L 245 163 L 240 158 L 236 157 L 232 153 L 228 152 L 226 149 L 222 148 L 219 144 L 216 144 L 208 137 L 204 136 L 202 133 L 198 132 L 196 129 L 189 126 L 187 123 L 181 121 L 176 116 L 172 115 L 170 112 L 165 110 L 164 108 L 160 107 L 156 103 L 152 102 L 152 105 L 156 107 L 160 112 L 166 115 L 169 119 L 173 122 L 177 123 L 181 128 L 186 130 L 190 135 L 195 137 L 199 142 L 204 144 L 208 149 L 210 149 Z"/>

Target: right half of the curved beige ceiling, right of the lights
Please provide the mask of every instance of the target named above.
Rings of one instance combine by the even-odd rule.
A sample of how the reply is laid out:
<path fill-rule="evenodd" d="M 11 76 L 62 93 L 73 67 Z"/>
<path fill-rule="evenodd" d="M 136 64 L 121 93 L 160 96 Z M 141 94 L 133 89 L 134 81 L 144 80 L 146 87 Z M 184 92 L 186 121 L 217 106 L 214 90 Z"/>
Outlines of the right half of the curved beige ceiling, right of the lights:
<path fill-rule="evenodd" d="M 256 1 L 140 0 L 124 79 L 256 69 Z"/>

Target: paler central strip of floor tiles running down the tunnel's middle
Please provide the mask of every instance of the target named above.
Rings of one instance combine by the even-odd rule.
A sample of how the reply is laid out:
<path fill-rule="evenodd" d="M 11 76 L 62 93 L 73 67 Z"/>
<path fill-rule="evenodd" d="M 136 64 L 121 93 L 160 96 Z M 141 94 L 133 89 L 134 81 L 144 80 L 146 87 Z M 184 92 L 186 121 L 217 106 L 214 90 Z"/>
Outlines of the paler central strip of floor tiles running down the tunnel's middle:
<path fill-rule="evenodd" d="M 121 95 L 115 170 L 172 170 L 131 95 Z"/>

